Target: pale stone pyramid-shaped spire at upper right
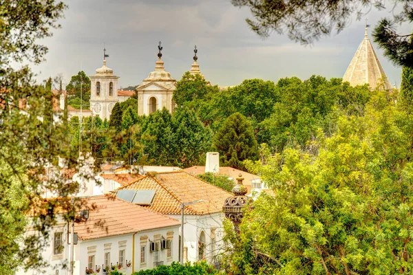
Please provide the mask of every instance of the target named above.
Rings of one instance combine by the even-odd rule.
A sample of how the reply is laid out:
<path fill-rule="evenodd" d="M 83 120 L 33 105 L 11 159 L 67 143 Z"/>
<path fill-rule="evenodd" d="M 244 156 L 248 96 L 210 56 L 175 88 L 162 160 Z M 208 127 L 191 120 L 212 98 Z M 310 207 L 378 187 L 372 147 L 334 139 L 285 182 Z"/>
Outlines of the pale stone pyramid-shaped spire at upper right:
<path fill-rule="evenodd" d="M 383 77 L 385 78 L 385 89 L 392 89 L 390 81 L 385 76 L 383 67 L 381 67 L 379 58 L 374 52 L 372 43 L 368 39 L 366 28 L 364 39 L 361 41 L 350 65 L 348 65 L 343 81 L 348 81 L 352 86 L 368 83 L 370 89 L 376 89 Z"/>

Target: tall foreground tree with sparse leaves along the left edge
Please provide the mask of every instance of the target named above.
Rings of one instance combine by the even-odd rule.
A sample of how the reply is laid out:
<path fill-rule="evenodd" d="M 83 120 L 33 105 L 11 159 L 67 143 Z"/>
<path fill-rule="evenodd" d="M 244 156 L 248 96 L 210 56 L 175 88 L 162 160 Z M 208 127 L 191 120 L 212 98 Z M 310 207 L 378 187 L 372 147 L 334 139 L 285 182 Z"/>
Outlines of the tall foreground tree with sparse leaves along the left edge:
<path fill-rule="evenodd" d="M 63 177 L 45 177 L 45 165 L 58 156 L 67 159 L 68 168 L 81 165 L 63 129 L 40 118 L 46 113 L 44 100 L 50 88 L 34 85 L 32 72 L 24 63 L 40 63 L 47 47 L 38 41 L 52 35 L 63 16 L 61 1 L 5 0 L 0 4 L 0 274 L 12 274 L 16 267 L 47 264 L 39 258 L 45 243 L 50 243 L 50 226 L 56 222 L 54 209 L 67 213 L 68 196 L 78 190 Z M 50 100 L 51 102 L 52 100 Z M 25 111 L 19 109 L 19 105 Z M 47 111 L 50 111 L 48 109 Z M 44 201 L 42 193 L 50 190 L 59 201 Z M 44 203 L 43 203 L 44 202 Z M 26 219 L 26 215 L 33 215 Z M 23 235 L 25 225 L 38 234 Z"/>

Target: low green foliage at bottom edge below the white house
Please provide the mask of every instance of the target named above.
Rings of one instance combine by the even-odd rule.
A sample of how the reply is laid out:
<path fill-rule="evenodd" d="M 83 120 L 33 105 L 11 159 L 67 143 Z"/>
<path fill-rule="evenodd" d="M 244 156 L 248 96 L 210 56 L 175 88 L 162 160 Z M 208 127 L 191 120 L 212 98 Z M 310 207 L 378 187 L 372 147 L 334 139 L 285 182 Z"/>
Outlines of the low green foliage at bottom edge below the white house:
<path fill-rule="evenodd" d="M 160 265 L 153 270 L 140 270 L 139 272 L 134 272 L 132 275 L 178 275 L 178 274 L 188 274 L 188 275 L 204 275 L 204 274 L 219 274 L 218 270 L 205 263 L 204 261 L 200 263 L 186 263 L 181 265 L 180 263 L 173 262 L 171 265 Z"/>

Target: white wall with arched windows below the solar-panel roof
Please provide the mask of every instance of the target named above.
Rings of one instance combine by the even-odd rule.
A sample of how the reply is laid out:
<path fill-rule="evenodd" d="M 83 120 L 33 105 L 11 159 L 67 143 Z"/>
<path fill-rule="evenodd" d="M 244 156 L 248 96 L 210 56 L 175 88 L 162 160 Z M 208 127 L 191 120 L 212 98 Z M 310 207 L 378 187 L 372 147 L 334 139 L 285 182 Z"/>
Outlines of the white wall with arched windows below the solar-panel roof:
<path fill-rule="evenodd" d="M 169 215 L 169 217 L 178 219 L 179 221 L 181 220 L 180 215 Z M 184 215 L 184 248 L 186 247 L 188 251 L 188 261 L 198 261 L 198 240 L 203 231 L 207 244 L 204 259 L 209 263 L 213 262 L 213 256 L 218 255 L 224 246 L 224 242 L 222 241 L 222 219 L 224 219 L 222 212 L 205 215 Z M 215 242 L 211 242 L 211 236 L 214 235 L 211 234 L 211 230 L 215 231 Z"/>

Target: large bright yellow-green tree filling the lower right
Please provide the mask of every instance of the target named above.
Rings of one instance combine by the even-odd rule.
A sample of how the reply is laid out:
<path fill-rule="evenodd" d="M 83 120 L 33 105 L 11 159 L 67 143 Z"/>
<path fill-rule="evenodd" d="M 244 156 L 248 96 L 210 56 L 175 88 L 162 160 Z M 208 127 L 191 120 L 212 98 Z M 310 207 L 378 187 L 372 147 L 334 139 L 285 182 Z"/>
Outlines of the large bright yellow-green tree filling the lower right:
<path fill-rule="evenodd" d="M 319 132 L 317 151 L 246 162 L 276 197 L 246 210 L 239 238 L 226 225 L 227 272 L 412 272 L 413 121 L 395 99 L 374 91 L 363 114 L 340 115 L 330 137 Z"/>

